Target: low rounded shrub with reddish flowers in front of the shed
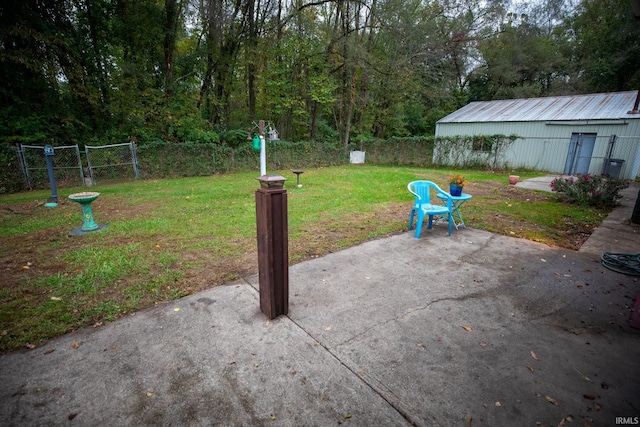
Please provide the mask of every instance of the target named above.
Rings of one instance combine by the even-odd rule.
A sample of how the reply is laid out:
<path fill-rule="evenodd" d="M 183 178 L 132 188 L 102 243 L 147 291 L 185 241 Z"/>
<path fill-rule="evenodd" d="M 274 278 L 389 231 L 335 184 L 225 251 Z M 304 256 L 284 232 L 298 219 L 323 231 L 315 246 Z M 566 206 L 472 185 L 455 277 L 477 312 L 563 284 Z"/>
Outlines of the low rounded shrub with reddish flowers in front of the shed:
<path fill-rule="evenodd" d="M 628 180 L 607 175 L 585 174 L 551 181 L 551 190 L 558 193 L 561 202 L 596 208 L 616 206 L 622 197 L 620 191 L 628 186 Z"/>

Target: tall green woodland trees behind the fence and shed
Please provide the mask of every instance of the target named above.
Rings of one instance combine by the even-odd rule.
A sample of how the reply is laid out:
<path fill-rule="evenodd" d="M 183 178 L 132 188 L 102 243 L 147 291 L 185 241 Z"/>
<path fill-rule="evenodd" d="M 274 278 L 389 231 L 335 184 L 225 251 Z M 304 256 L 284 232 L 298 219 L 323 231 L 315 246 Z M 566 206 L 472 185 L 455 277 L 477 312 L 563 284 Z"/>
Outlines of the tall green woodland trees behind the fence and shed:
<path fill-rule="evenodd" d="M 639 44 L 618 0 L 6 0 L 0 140 L 237 144 L 264 119 L 348 147 L 469 100 L 637 89 Z"/>

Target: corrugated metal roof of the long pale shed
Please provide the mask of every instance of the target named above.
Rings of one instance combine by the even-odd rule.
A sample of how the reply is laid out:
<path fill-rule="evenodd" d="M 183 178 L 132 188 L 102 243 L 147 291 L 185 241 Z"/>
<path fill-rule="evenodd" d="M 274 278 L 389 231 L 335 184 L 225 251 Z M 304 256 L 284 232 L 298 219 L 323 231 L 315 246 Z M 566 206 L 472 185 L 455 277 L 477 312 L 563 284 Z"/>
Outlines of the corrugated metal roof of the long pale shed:
<path fill-rule="evenodd" d="M 478 101 L 454 111 L 438 123 L 640 119 L 640 114 L 628 114 L 633 109 L 637 93 Z"/>

